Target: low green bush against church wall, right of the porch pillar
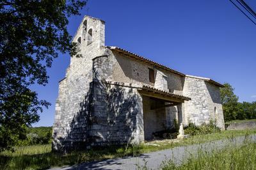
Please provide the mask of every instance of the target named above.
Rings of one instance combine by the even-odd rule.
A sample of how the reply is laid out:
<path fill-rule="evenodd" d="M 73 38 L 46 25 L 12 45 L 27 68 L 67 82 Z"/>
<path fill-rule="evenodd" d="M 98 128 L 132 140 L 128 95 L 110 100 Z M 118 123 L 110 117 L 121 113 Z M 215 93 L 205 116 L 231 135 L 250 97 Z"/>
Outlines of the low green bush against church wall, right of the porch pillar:
<path fill-rule="evenodd" d="M 209 124 L 204 123 L 201 126 L 196 126 L 195 123 L 189 123 L 188 127 L 184 129 L 184 132 L 189 135 L 212 134 L 220 132 L 220 128 L 216 127 L 212 121 Z"/>

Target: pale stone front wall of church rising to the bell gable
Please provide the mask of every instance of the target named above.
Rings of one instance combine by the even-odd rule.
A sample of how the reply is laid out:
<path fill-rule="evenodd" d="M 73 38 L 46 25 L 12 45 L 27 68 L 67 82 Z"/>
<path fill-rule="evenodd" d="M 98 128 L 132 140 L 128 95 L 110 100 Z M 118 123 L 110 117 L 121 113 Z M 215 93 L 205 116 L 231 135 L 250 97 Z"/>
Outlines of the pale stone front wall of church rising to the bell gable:
<path fill-rule="evenodd" d="M 86 31 L 83 23 L 86 20 Z M 92 29 L 92 42 L 88 43 L 88 30 Z M 104 47 L 104 22 L 84 17 L 73 42 L 79 43 L 81 58 L 70 58 L 65 79 L 59 84 L 56 116 L 53 125 L 52 149 L 67 151 L 83 148 L 88 143 L 90 96 L 92 86 L 92 58 L 106 53 Z"/>

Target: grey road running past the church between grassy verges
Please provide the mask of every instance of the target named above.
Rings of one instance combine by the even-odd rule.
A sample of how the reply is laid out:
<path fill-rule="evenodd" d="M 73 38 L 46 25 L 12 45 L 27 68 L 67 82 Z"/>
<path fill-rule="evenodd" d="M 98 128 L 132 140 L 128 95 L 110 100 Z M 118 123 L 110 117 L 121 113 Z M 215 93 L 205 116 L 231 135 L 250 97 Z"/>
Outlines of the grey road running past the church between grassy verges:
<path fill-rule="evenodd" d="M 251 141 L 256 142 L 256 135 L 250 135 Z M 168 150 L 154 151 L 141 154 L 139 157 L 113 158 L 97 162 L 88 162 L 78 166 L 55 167 L 52 170 L 67 169 L 138 169 L 147 163 L 148 169 L 159 169 L 164 160 L 172 159 L 175 164 L 180 164 L 191 154 L 198 150 L 211 151 L 220 150 L 225 146 L 239 146 L 243 144 L 244 136 L 234 139 L 223 139 L 203 144 L 193 144 L 189 146 L 179 146 Z"/>

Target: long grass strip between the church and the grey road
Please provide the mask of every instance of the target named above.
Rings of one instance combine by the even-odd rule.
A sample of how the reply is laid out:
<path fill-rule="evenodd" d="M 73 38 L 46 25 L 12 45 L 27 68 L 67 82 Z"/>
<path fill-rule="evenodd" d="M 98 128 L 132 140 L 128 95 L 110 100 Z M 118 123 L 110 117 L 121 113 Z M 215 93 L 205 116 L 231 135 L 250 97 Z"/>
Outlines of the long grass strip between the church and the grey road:
<path fill-rule="evenodd" d="M 47 169 L 50 167 L 79 164 L 92 160 L 102 160 L 106 158 L 125 157 L 128 155 L 140 155 L 150 151 L 164 150 L 175 146 L 205 143 L 218 139 L 232 138 L 241 135 L 256 134 L 253 130 L 230 130 L 216 134 L 195 135 L 184 139 L 179 143 L 159 142 L 159 146 L 140 144 L 139 146 L 111 146 L 105 148 L 93 148 L 87 151 L 74 151 L 61 155 L 52 153 L 51 145 L 36 145 L 17 147 L 14 153 L 3 152 L 0 154 L 0 169 Z M 154 142 L 151 142 L 154 143 Z"/>

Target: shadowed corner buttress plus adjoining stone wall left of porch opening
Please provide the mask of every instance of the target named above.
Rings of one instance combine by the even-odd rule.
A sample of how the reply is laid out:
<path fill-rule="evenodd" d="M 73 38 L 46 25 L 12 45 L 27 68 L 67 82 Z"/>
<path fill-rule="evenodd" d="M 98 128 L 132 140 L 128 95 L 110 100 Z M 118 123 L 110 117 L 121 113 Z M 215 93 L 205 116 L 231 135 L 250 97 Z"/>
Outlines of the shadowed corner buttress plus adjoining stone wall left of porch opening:
<path fill-rule="evenodd" d="M 93 59 L 92 145 L 143 141 L 142 99 L 136 88 L 109 84 L 111 56 Z"/>

